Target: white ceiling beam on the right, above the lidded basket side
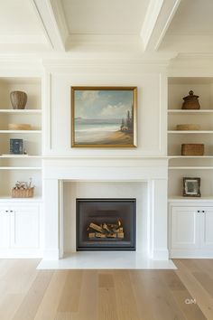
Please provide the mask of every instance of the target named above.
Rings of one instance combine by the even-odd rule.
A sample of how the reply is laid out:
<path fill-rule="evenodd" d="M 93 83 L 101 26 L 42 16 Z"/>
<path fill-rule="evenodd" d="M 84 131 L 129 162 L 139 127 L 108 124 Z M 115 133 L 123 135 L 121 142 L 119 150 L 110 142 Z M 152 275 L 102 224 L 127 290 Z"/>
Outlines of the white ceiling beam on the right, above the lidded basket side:
<path fill-rule="evenodd" d="M 144 51 L 157 51 L 181 0 L 151 0 L 141 37 Z"/>

